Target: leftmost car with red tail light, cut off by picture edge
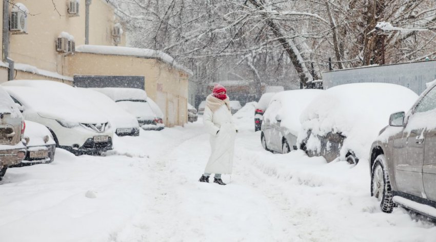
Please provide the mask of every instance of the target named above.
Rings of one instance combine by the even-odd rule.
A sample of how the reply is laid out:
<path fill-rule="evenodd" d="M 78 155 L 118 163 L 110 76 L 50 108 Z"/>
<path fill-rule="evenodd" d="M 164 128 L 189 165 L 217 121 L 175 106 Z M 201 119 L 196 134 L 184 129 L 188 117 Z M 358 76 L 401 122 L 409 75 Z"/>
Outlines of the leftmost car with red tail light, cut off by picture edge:
<path fill-rule="evenodd" d="M 8 167 L 26 156 L 22 136 L 26 129 L 23 116 L 8 93 L 0 87 L 0 181 Z"/>

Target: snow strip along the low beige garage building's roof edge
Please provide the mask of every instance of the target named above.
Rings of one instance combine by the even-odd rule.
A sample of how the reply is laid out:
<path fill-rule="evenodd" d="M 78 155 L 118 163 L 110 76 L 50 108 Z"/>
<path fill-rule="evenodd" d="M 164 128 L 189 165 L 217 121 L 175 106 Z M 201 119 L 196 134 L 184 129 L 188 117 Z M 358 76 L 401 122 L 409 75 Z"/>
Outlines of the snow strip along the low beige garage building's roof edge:
<path fill-rule="evenodd" d="M 102 55 L 125 55 L 125 56 L 136 56 L 136 57 L 158 59 L 172 65 L 172 67 L 176 69 L 188 73 L 191 76 L 193 75 L 191 70 L 184 67 L 182 64 L 177 63 L 174 60 L 174 58 L 172 58 L 170 55 L 158 50 L 121 47 L 121 46 L 80 45 L 76 47 L 75 51 L 80 53 L 92 53 L 92 54 L 102 54 Z"/>

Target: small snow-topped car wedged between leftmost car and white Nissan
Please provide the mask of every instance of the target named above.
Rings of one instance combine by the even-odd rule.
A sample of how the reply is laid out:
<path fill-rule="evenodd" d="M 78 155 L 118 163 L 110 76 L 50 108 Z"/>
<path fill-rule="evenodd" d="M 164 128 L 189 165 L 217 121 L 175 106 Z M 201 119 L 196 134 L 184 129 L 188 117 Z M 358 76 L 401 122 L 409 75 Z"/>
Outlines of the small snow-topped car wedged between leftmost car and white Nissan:
<path fill-rule="evenodd" d="M 26 158 L 22 163 L 51 163 L 54 159 L 56 142 L 50 130 L 42 124 L 25 120 Z"/>

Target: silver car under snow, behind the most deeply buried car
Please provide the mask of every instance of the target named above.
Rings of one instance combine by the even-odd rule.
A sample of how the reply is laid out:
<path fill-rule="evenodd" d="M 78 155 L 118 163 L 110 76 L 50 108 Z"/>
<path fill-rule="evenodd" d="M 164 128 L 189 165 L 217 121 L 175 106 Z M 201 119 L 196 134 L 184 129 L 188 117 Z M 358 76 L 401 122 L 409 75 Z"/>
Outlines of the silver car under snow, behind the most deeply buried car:
<path fill-rule="evenodd" d="M 262 147 L 280 153 L 297 149 L 296 139 L 301 129 L 300 115 L 310 101 L 321 93 L 322 90 L 303 89 L 274 94 L 263 115 Z"/>

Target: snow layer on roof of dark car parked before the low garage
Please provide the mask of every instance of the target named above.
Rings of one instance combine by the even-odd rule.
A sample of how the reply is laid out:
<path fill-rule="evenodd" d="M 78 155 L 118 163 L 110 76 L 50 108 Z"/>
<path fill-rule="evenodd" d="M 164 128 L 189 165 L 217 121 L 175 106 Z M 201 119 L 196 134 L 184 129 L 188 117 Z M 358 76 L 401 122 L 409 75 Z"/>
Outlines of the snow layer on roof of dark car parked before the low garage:
<path fill-rule="evenodd" d="M 147 93 L 143 89 L 128 88 L 128 87 L 103 87 L 103 88 L 93 88 L 93 90 L 105 94 L 115 102 L 121 100 L 147 101 Z"/>

